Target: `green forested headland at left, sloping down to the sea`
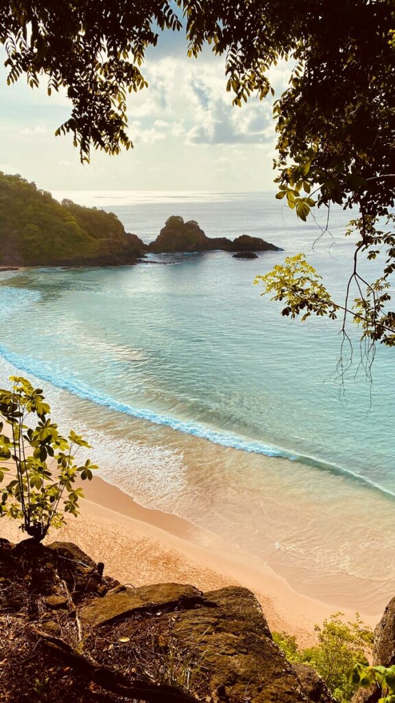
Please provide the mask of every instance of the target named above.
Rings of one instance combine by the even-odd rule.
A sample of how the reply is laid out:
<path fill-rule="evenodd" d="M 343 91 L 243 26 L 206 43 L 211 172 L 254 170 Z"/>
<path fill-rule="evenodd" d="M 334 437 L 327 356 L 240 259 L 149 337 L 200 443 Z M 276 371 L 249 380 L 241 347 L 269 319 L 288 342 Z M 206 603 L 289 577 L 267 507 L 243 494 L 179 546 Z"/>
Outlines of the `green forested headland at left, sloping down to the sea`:
<path fill-rule="evenodd" d="M 60 205 L 34 183 L 0 172 L 0 265 L 130 263 L 140 250 L 115 214 L 71 200 Z"/>

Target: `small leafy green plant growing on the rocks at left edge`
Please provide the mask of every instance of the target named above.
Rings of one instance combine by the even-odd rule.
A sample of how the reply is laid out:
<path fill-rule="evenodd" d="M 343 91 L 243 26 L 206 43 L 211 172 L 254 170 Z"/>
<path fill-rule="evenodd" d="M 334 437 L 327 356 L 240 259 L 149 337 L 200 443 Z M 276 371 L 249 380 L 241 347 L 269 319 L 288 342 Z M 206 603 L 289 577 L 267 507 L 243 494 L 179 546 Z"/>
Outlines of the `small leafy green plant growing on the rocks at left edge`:
<path fill-rule="evenodd" d="M 86 459 L 75 463 L 75 453 L 90 445 L 72 430 L 67 439 L 51 422 L 50 406 L 40 388 L 20 376 L 11 376 L 11 390 L 0 389 L 0 517 L 21 520 L 21 529 L 41 542 L 50 527 L 61 527 L 65 512 L 79 515 L 81 488 L 75 479 L 91 480 L 98 467 Z"/>

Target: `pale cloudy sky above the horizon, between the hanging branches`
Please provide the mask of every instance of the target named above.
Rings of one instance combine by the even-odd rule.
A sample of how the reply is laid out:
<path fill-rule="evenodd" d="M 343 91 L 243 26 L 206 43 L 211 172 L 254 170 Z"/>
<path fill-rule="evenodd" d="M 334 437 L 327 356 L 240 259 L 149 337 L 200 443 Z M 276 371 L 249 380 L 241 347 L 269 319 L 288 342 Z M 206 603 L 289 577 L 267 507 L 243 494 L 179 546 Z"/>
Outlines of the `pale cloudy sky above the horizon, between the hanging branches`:
<path fill-rule="evenodd" d="M 148 89 L 129 100 L 134 149 L 118 156 L 93 152 L 80 165 L 71 136 L 54 136 L 70 115 L 65 94 L 30 89 L 25 77 L 6 85 L 0 54 L 0 171 L 19 173 L 54 190 L 268 191 L 274 189 L 276 135 L 272 99 L 242 108 L 226 93 L 224 59 L 207 49 L 186 57 L 183 34 L 164 32 L 143 65 Z M 271 72 L 278 95 L 286 65 Z"/>

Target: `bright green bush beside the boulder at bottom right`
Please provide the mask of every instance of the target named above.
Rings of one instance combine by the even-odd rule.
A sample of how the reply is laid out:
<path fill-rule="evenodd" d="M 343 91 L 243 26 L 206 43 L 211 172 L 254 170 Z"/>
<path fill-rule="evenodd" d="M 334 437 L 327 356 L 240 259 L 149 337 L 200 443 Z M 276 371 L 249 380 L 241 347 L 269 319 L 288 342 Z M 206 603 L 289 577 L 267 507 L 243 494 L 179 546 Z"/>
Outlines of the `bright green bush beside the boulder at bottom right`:
<path fill-rule="evenodd" d="M 299 649 L 296 638 L 284 632 L 273 632 L 273 640 L 290 662 L 312 666 L 338 703 L 348 703 L 358 688 L 349 673 L 356 662 L 366 661 L 373 646 L 373 631 L 363 624 L 358 613 L 355 622 L 348 623 L 342 620 L 342 613 L 335 613 L 322 626 L 316 625 L 315 630 L 318 645 L 304 650 Z"/>

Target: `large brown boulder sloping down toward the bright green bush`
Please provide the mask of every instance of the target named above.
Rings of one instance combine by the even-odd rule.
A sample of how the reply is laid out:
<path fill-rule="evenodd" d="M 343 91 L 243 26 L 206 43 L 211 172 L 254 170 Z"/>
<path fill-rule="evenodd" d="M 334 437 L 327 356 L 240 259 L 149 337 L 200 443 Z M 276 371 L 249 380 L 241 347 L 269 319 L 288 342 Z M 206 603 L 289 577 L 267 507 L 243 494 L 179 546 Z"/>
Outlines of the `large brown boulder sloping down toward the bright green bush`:
<path fill-rule="evenodd" d="M 271 638 L 247 588 L 205 593 L 209 605 L 178 614 L 174 636 L 201 657 L 211 699 L 226 703 L 306 702 L 294 669 Z"/>

